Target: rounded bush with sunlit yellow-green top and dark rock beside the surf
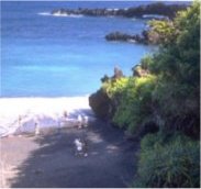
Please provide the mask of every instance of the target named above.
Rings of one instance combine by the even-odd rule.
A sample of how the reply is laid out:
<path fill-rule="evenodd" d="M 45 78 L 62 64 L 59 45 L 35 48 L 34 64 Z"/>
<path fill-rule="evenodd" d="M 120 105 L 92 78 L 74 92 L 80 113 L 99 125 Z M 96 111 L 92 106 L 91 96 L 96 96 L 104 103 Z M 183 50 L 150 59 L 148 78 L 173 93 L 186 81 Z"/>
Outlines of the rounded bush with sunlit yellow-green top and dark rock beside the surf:
<path fill-rule="evenodd" d="M 135 133 L 153 121 L 152 96 L 156 82 L 153 75 L 109 78 L 90 97 L 90 104 L 98 116 L 110 116 L 113 124 Z"/>

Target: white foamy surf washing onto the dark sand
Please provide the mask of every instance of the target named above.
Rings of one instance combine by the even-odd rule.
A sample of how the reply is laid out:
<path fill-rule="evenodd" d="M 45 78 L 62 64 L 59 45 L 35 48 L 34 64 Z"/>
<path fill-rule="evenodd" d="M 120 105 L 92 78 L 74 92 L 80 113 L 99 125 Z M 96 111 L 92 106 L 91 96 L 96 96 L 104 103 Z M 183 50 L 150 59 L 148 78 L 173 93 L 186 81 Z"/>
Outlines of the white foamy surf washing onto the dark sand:
<path fill-rule="evenodd" d="M 65 113 L 68 116 L 65 118 Z M 60 127 L 77 122 L 92 113 L 86 97 L 71 98 L 1 98 L 0 99 L 0 136 L 16 132 L 34 132 L 40 129 Z"/>

